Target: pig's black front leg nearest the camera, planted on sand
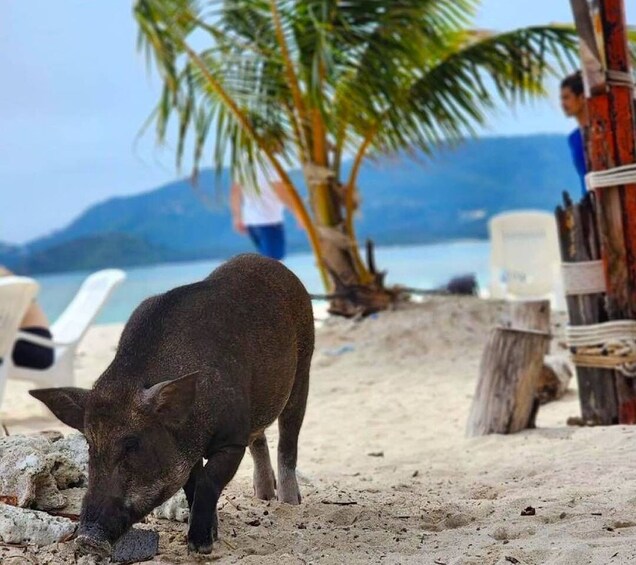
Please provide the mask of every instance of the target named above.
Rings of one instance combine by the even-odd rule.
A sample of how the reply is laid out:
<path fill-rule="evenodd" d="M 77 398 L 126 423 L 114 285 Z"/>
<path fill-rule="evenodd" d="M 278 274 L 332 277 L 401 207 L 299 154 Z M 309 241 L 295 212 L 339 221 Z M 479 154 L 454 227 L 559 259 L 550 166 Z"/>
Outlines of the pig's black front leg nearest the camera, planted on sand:
<path fill-rule="evenodd" d="M 225 485 L 232 480 L 244 454 L 244 445 L 230 445 L 215 451 L 205 466 L 197 464 L 193 469 L 194 476 L 191 475 L 188 480 L 191 492 L 194 491 L 188 527 L 190 551 L 197 553 L 212 551 L 213 540 L 218 538 L 216 507 L 219 496 Z M 192 483 L 194 483 L 193 489 Z"/>

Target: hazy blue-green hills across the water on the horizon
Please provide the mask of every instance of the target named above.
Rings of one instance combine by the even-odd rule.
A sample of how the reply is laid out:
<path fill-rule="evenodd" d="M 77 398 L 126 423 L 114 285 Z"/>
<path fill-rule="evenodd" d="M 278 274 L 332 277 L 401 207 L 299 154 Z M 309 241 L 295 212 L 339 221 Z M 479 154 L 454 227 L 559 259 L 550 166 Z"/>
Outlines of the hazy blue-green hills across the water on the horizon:
<path fill-rule="evenodd" d="M 300 179 L 298 171 L 294 172 Z M 221 258 L 250 250 L 231 229 L 227 173 L 222 197 L 204 170 L 199 186 L 187 180 L 90 207 L 65 228 L 17 247 L 0 245 L 0 262 L 23 272 L 95 269 L 163 261 Z M 493 214 L 515 208 L 553 210 L 561 192 L 578 197 L 565 138 L 486 138 L 444 149 L 433 158 L 384 158 L 360 174 L 358 233 L 378 244 L 427 243 L 487 237 Z M 210 205 L 207 200 L 215 200 Z M 289 221 L 290 251 L 308 249 Z"/>

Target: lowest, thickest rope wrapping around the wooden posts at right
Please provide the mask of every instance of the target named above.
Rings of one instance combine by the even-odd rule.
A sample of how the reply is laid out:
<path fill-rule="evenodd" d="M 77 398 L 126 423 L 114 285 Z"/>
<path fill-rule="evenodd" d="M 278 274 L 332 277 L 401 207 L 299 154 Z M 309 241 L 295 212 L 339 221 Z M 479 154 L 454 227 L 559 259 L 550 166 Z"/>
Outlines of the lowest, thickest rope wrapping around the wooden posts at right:
<path fill-rule="evenodd" d="M 573 362 L 636 377 L 636 320 L 568 326 L 566 340 Z"/>

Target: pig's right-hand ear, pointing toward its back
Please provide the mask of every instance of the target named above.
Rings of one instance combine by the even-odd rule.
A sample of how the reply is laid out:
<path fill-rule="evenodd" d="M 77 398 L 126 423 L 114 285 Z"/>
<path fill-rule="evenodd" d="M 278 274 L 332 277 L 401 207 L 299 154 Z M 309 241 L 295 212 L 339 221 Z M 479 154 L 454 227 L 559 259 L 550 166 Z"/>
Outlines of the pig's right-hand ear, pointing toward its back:
<path fill-rule="evenodd" d="M 163 381 L 143 392 L 143 404 L 167 425 L 183 422 L 194 404 L 198 371 L 172 381 Z"/>

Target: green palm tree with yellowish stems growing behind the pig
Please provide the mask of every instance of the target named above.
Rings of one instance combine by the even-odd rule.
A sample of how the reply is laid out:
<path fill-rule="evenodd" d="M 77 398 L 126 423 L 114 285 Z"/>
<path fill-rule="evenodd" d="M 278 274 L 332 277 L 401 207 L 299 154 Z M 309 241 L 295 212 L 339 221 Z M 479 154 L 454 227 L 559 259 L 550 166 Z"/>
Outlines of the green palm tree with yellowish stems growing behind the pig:
<path fill-rule="evenodd" d="M 158 137 L 178 125 L 177 160 L 195 168 L 213 138 L 217 170 L 253 177 L 268 164 L 289 190 L 332 312 L 386 307 L 385 288 L 354 229 L 358 174 L 370 155 L 474 134 L 503 100 L 545 94 L 573 61 L 566 26 L 469 30 L 478 0 L 136 0 L 140 45 L 163 93 Z M 271 150 L 272 142 L 282 153 Z M 343 178 L 343 161 L 353 165 Z M 300 165 L 307 202 L 286 173 Z"/>

